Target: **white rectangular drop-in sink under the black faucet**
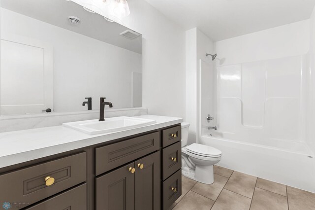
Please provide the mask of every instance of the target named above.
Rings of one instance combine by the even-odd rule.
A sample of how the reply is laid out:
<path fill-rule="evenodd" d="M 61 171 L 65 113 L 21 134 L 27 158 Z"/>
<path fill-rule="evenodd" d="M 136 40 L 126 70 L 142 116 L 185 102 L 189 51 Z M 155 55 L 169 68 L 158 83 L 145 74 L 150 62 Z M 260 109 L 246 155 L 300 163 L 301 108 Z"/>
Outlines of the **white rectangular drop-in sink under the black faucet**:
<path fill-rule="evenodd" d="M 124 131 L 133 128 L 139 128 L 156 123 L 156 120 L 136 118 L 136 117 L 111 117 L 105 118 L 105 121 L 86 120 L 78 122 L 63 123 L 63 126 L 69 127 L 90 135 L 105 134 L 115 131 Z"/>

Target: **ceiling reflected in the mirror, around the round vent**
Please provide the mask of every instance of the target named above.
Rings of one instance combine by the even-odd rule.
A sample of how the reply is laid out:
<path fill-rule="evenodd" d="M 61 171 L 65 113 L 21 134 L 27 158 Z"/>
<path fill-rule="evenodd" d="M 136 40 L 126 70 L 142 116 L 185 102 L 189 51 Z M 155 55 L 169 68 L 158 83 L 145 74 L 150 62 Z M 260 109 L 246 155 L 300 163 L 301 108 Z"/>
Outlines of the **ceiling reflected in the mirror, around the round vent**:
<path fill-rule="evenodd" d="M 120 34 L 127 30 L 126 27 L 88 12 L 72 1 L 1 0 L 1 7 L 142 54 L 141 36 L 134 39 L 121 36 Z M 68 16 L 78 17 L 81 22 L 72 25 Z"/>

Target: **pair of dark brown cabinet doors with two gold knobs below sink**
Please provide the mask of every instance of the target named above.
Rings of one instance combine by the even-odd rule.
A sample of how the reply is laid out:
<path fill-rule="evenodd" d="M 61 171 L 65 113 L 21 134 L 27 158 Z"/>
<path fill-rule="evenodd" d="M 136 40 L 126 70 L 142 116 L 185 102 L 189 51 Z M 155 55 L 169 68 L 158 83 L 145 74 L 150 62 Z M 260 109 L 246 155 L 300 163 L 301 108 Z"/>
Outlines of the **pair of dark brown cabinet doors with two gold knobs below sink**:
<path fill-rule="evenodd" d="M 96 178 L 96 210 L 159 210 L 159 151 Z"/>

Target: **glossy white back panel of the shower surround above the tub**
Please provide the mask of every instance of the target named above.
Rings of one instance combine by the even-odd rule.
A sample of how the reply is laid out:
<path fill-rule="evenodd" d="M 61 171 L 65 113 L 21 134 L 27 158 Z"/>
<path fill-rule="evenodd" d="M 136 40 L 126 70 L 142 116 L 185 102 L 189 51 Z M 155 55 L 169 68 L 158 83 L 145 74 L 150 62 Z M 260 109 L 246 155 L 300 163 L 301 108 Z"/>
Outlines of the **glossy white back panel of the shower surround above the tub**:
<path fill-rule="evenodd" d="M 217 125 L 235 140 L 305 142 L 306 56 L 217 67 Z"/>

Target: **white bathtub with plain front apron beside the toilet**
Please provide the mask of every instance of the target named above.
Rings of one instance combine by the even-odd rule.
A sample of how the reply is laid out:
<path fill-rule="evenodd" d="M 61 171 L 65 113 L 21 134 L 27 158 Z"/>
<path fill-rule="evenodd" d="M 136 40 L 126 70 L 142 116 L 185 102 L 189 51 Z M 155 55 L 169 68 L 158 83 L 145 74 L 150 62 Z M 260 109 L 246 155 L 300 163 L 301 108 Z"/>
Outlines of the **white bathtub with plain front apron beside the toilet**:
<path fill-rule="evenodd" d="M 234 134 L 211 135 L 201 136 L 200 143 L 222 151 L 217 165 L 315 193 L 315 157 L 305 143 L 271 139 L 258 144 Z"/>

